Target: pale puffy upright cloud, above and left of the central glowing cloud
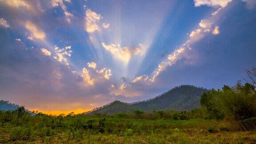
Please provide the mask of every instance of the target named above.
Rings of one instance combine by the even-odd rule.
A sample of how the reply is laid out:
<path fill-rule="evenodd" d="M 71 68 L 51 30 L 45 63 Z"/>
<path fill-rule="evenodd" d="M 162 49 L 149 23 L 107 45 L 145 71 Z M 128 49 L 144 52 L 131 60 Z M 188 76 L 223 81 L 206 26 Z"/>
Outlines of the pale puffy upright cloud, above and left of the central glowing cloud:
<path fill-rule="evenodd" d="M 101 19 L 102 17 L 100 14 L 87 9 L 85 12 L 85 30 L 87 32 L 100 31 L 101 29 L 98 24 L 100 23 Z"/>

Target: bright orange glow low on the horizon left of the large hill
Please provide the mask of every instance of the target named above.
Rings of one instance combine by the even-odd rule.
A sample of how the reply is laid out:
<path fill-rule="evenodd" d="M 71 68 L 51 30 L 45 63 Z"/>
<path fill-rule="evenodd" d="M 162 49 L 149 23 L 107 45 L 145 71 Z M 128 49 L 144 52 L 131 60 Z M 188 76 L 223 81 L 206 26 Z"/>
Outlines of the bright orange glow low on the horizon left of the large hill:
<path fill-rule="evenodd" d="M 52 111 L 47 111 L 47 110 L 40 110 L 40 109 L 30 109 L 30 111 L 38 111 L 38 112 L 42 112 L 44 114 L 48 114 L 48 115 L 60 115 L 60 114 L 69 114 L 71 112 L 74 112 L 75 114 L 80 114 L 83 112 L 88 112 L 90 109 L 76 109 L 76 110 L 68 110 L 68 111 L 61 111 L 61 110 L 52 110 Z"/>

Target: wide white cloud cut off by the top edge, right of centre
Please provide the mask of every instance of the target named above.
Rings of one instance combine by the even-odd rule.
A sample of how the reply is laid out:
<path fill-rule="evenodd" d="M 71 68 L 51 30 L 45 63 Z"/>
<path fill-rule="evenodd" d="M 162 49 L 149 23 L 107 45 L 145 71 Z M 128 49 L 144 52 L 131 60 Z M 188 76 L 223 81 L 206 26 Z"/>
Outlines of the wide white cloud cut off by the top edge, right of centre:
<path fill-rule="evenodd" d="M 232 0 L 194 0 L 195 6 L 200 7 L 201 5 L 207 5 L 210 7 L 221 7 L 224 8 Z"/>

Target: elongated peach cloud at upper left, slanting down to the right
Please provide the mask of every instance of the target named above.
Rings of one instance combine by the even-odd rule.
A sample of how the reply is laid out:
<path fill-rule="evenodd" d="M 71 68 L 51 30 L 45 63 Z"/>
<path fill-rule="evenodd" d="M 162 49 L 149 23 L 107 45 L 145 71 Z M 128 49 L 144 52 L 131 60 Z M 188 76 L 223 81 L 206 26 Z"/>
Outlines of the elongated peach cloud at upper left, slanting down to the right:
<path fill-rule="evenodd" d="M 32 23 L 31 21 L 27 21 L 25 27 L 32 33 L 32 36 L 36 39 L 44 40 L 45 33 L 40 30 L 36 24 Z"/>

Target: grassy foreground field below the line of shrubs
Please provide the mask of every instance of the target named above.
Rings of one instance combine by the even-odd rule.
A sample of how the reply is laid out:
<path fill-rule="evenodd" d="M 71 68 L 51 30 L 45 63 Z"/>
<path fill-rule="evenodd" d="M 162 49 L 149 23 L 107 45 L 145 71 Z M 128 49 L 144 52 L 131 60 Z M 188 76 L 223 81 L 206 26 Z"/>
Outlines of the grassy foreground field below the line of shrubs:
<path fill-rule="evenodd" d="M 256 143 L 256 132 L 216 120 L 28 116 L 0 127 L 0 143 Z M 27 121 L 24 123 L 24 121 Z"/>

